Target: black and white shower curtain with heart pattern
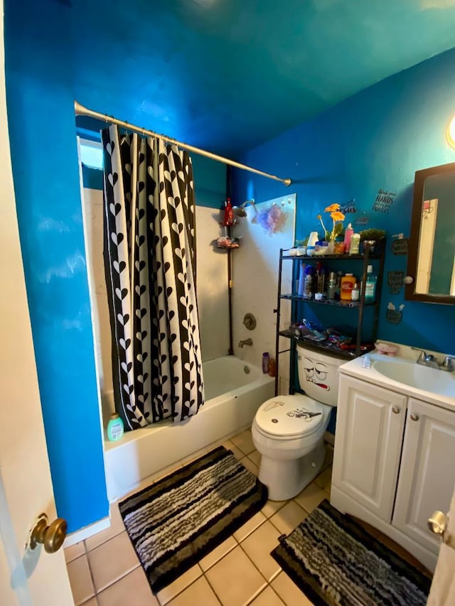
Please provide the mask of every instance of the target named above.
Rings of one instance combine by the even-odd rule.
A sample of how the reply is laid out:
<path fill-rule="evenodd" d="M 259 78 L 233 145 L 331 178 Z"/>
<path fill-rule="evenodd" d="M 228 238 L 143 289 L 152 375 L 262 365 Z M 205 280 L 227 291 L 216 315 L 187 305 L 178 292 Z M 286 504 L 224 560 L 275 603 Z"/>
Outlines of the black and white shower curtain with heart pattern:
<path fill-rule="evenodd" d="M 102 131 L 114 399 L 125 428 L 203 405 L 193 169 L 161 139 Z"/>

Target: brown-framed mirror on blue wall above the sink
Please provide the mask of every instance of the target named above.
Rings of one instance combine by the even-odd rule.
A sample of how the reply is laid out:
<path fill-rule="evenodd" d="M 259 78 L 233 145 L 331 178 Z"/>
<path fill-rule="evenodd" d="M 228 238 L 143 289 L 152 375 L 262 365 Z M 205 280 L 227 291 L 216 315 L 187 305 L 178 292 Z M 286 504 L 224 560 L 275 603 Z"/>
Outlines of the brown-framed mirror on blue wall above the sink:
<path fill-rule="evenodd" d="M 405 298 L 455 304 L 455 162 L 415 173 Z"/>

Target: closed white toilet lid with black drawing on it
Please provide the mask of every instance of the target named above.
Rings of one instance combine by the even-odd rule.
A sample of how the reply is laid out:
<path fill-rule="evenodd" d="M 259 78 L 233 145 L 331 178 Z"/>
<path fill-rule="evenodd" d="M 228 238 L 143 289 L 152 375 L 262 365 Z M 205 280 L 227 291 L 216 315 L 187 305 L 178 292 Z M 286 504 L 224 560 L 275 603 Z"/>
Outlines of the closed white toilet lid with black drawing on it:
<path fill-rule="evenodd" d="M 295 394 L 270 398 L 256 413 L 257 427 L 271 435 L 310 435 L 323 423 L 323 408 L 319 402 Z"/>

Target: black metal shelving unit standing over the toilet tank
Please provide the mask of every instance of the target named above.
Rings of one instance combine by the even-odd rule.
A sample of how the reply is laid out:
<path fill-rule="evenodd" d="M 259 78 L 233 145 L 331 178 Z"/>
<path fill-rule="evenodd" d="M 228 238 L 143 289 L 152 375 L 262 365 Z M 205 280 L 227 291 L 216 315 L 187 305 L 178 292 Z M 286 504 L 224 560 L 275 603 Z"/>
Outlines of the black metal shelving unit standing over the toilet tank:
<path fill-rule="evenodd" d="M 367 307 L 373 307 L 374 315 L 373 315 L 373 326 L 372 326 L 372 343 L 376 340 L 377 328 L 378 328 L 378 318 L 379 318 L 379 305 L 380 305 L 380 293 L 382 287 L 382 274 L 384 272 L 384 259 L 385 259 L 385 239 L 380 242 L 380 254 L 371 254 L 370 245 L 364 243 L 365 250 L 363 254 L 326 254 L 321 256 L 308 256 L 308 255 L 299 255 L 293 256 L 286 254 L 288 249 L 280 249 L 279 251 L 279 270 L 278 270 L 278 294 L 277 294 L 277 308 L 274 310 L 277 313 L 277 337 L 276 337 L 276 348 L 275 348 L 275 361 L 276 361 L 276 374 L 275 374 L 275 395 L 278 393 L 278 379 L 279 379 L 279 355 L 285 352 L 290 352 L 290 367 L 289 367 L 289 392 L 291 394 L 294 393 L 295 390 L 295 362 L 296 362 L 296 342 L 304 342 L 305 347 L 308 347 L 314 351 L 322 351 L 325 353 L 330 353 L 335 357 L 339 357 L 341 359 L 353 359 L 365 353 L 360 349 L 362 344 L 362 334 L 363 334 L 363 322 L 364 322 L 364 310 Z M 298 295 L 296 293 L 282 293 L 282 269 L 283 269 L 283 261 L 293 261 L 293 271 L 292 271 L 292 283 L 293 285 L 296 283 L 297 269 L 299 266 L 299 262 L 306 261 L 309 264 L 316 264 L 318 261 L 350 261 L 351 264 L 354 264 L 355 261 L 363 261 L 363 269 L 362 269 L 362 288 L 360 290 L 360 298 L 359 301 L 316 301 L 314 298 L 306 298 L 304 296 Z M 373 264 L 373 262 L 377 262 L 378 266 L 378 281 L 376 283 L 376 298 L 374 303 L 370 303 L 365 301 L 365 282 L 367 276 L 367 268 L 369 264 Z M 345 308 L 352 310 L 352 313 L 357 313 L 357 333 L 355 337 L 355 350 L 343 350 L 337 345 L 333 343 L 329 343 L 326 341 L 314 341 L 308 337 L 304 337 L 301 335 L 301 332 L 298 329 L 287 329 L 280 330 L 280 318 L 281 318 L 281 302 L 283 300 L 291 301 L 291 322 L 296 321 L 297 310 L 299 305 L 325 305 L 330 306 L 333 310 L 337 308 Z M 279 337 L 287 337 L 290 340 L 290 346 L 287 350 L 279 350 Z"/>

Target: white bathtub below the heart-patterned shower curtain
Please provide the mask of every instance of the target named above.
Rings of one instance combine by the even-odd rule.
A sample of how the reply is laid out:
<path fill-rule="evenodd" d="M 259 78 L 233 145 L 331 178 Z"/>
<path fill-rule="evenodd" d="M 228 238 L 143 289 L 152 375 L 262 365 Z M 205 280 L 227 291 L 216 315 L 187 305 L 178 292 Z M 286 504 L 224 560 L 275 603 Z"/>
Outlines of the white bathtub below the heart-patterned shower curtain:
<path fill-rule="evenodd" d="M 117 442 L 105 435 L 107 496 L 113 502 L 181 459 L 252 424 L 257 408 L 274 395 L 274 379 L 235 356 L 204 362 L 205 404 L 183 423 L 162 421 L 129 431 Z M 102 396 L 108 418 L 112 392 Z"/>

